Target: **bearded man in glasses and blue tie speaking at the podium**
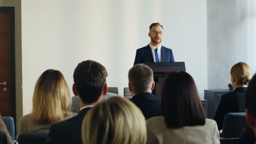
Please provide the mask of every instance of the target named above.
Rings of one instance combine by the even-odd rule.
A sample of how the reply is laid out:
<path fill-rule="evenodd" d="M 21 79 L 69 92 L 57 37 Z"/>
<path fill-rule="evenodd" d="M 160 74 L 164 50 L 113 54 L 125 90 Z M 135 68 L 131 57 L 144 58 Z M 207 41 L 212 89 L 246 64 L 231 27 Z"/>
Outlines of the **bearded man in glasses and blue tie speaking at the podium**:
<path fill-rule="evenodd" d="M 150 43 L 137 49 L 133 65 L 144 62 L 174 62 L 172 50 L 161 45 L 164 33 L 162 28 L 158 22 L 149 26 Z"/>

